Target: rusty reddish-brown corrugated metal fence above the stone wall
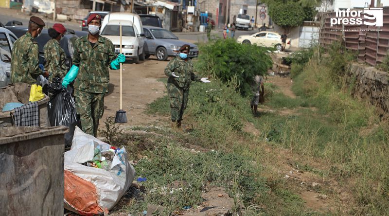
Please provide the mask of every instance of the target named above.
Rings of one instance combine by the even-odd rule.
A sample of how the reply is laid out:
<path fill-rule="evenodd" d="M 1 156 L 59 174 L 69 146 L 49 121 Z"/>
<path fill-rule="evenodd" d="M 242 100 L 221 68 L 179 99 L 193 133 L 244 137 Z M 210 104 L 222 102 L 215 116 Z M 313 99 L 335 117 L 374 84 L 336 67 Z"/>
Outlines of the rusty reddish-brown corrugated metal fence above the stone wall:
<path fill-rule="evenodd" d="M 335 41 L 341 41 L 347 49 L 358 53 L 358 62 L 365 62 L 371 66 L 382 63 L 389 49 L 389 7 L 383 8 L 383 27 L 365 24 L 331 26 L 330 19 L 335 17 L 335 12 L 326 13 L 323 16 L 324 23 L 320 31 L 322 47 L 328 47 Z M 364 23 L 367 20 L 364 18 L 364 13 L 361 17 Z"/>

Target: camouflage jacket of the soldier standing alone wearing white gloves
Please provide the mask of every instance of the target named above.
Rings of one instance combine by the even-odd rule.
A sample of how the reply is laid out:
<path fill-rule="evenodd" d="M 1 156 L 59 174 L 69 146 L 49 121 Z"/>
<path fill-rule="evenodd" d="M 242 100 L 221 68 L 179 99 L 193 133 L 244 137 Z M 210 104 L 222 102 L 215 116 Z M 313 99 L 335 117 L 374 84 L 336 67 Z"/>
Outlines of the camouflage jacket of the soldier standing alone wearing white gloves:
<path fill-rule="evenodd" d="M 172 76 L 172 72 L 179 77 Z M 189 89 L 192 81 L 200 81 L 194 73 L 192 60 L 185 61 L 180 57 L 170 60 L 165 68 L 165 75 L 169 77 L 168 83 L 182 89 Z"/>

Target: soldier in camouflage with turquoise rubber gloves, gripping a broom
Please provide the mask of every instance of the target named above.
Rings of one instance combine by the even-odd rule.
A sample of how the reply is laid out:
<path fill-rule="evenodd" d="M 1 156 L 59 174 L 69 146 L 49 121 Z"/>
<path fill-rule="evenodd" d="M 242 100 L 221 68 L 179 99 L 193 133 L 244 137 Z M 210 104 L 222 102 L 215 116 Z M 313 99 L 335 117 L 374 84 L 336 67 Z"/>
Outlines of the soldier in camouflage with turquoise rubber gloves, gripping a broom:
<path fill-rule="evenodd" d="M 62 86 L 67 88 L 74 79 L 76 111 L 85 133 L 97 136 L 99 120 L 104 113 L 104 95 L 108 92 L 109 72 L 120 69 L 125 56 L 116 56 L 112 42 L 99 35 L 101 16 L 91 14 L 87 20 L 89 34 L 74 44 L 73 65 Z"/>

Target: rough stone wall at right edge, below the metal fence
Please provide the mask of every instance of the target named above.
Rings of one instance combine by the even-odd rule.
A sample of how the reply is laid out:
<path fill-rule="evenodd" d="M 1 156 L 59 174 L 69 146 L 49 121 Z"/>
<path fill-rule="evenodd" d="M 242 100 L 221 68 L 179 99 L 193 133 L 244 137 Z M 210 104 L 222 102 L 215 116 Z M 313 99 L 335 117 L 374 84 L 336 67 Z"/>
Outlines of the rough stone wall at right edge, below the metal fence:
<path fill-rule="evenodd" d="M 346 82 L 353 96 L 370 101 L 379 112 L 389 112 L 389 73 L 353 63 L 346 71 Z"/>

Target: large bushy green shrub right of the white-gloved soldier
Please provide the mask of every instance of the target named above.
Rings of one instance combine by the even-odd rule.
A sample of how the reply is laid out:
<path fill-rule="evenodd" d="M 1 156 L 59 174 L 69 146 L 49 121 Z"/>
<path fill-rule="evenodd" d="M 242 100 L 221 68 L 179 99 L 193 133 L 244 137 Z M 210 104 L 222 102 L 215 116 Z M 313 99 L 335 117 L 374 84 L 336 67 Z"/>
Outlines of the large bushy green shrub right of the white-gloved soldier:
<path fill-rule="evenodd" d="M 253 77 L 264 75 L 272 64 L 264 47 L 239 44 L 233 39 L 218 39 L 200 46 L 195 69 L 203 75 L 216 76 L 242 95 L 248 95 Z"/>

